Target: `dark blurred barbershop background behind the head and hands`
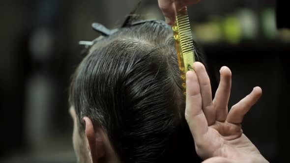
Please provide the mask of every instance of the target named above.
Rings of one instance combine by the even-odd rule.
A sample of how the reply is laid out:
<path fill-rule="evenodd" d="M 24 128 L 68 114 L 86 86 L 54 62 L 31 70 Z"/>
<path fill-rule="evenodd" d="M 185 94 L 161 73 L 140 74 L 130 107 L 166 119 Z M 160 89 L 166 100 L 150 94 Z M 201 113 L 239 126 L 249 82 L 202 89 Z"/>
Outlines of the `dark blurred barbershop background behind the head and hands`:
<path fill-rule="evenodd" d="M 74 163 L 68 113 L 70 77 L 81 40 L 114 28 L 136 0 L 0 1 L 0 163 Z M 261 86 L 244 133 L 270 163 L 288 162 L 289 13 L 282 0 L 202 0 L 189 6 L 194 39 L 211 73 L 232 70 L 230 106 Z M 284 10 L 284 11 L 283 11 Z M 164 19 L 157 0 L 143 0 L 145 19 Z M 279 16 L 279 18 L 277 17 Z M 289 27 L 289 26 L 288 26 Z"/>

